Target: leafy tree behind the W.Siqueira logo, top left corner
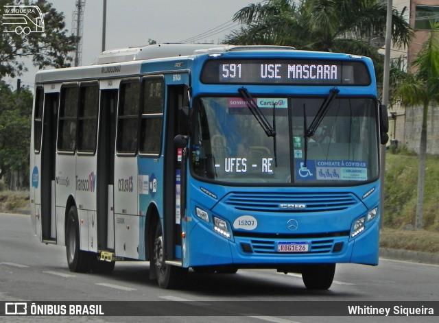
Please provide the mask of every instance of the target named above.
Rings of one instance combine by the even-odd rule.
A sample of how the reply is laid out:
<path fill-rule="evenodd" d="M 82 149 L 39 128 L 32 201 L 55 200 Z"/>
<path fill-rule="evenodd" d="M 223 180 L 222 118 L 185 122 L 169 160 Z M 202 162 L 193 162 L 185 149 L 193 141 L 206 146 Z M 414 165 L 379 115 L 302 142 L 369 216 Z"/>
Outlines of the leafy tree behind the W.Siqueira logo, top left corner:
<path fill-rule="evenodd" d="M 29 5 L 29 1 L 24 1 Z M 15 32 L 0 32 L 0 80 L 2 77 L 15 77 L 26 71 L 23 58 L 30 57 L 35 66 L 69 67 L 73 57 L 69 53 L 75 50 L 76 36 L 68 36 L 65 29 L 64 14 L 56 12 L 51 3 L 46 0 L 37 0 L 32 3 L 38 5 L 44 15 L 45 32 L 31 32 L 30 34 L 16 34 Z M 3 11 L 11 1 L 0 0 L 0 25 L 3 23 Z"/>

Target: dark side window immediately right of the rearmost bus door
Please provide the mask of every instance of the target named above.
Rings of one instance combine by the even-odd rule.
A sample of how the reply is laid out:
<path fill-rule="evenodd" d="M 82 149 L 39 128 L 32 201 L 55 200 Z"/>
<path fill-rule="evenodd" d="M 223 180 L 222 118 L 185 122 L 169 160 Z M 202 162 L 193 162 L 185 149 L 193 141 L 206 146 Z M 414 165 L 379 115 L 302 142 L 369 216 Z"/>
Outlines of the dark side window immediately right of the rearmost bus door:
<path fill-rule="evenodd" d="M 75 152 L 76 119 L 78 114 L 78 84 L 61 87 L 60 121 L 58 124 L 58 150 Z"/>

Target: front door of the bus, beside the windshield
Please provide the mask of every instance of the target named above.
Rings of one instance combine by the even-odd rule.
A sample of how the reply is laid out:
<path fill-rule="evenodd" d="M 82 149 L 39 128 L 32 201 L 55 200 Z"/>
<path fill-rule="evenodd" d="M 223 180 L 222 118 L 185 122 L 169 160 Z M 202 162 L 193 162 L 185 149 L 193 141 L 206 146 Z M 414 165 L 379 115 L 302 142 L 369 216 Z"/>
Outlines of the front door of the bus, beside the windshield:
<path fill-rule="evenodd" d="M 177 147 L 174 138 L 182 133 L 181 123 L 186 120 L 181 108 L 187 106 L 187 86 L 167 88 L 167 131 L 165 132 L 165 191 L 164 233 L 166 260 L 182 259 L 182 218 L 185 210 L 185 160 L 184 147 Z M 170 171 L 172 169 L 172 171 Z M 169 170 L 169 171 L 168 171 Z"/>

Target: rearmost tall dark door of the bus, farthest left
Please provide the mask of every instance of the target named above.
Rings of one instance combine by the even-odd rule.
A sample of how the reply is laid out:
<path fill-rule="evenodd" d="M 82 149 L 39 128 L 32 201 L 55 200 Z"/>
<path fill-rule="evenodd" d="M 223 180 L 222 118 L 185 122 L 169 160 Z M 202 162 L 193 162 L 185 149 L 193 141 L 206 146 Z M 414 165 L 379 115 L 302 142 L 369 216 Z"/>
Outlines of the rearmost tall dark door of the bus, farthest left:
<path fill-rule="evenodd" d="M 41 146 L 41 239 L 56 241 L 55 158 L 59 93 L 45 95 Z M 37 230 L 38 232 L 38 230 Z"/>

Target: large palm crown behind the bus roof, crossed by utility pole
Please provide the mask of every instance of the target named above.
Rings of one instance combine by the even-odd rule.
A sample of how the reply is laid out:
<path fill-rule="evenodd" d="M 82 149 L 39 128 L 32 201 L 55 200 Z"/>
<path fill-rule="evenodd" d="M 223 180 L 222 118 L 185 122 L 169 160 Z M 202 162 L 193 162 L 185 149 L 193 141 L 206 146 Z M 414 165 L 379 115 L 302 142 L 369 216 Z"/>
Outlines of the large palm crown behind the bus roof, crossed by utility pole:
<path fill-rule="evenodd" d="M 385 34 L 386 4 L 379 0 L 265 0 L 239 10 L 234 21 L 244 26 L 224 40 L 236 45 L 289 45 L 297 49 L 340 51 L 369 56 L 371 44 Z M 403 12 L 393 11 L 392 40 L 409 43 L 412 30 Z"/>

